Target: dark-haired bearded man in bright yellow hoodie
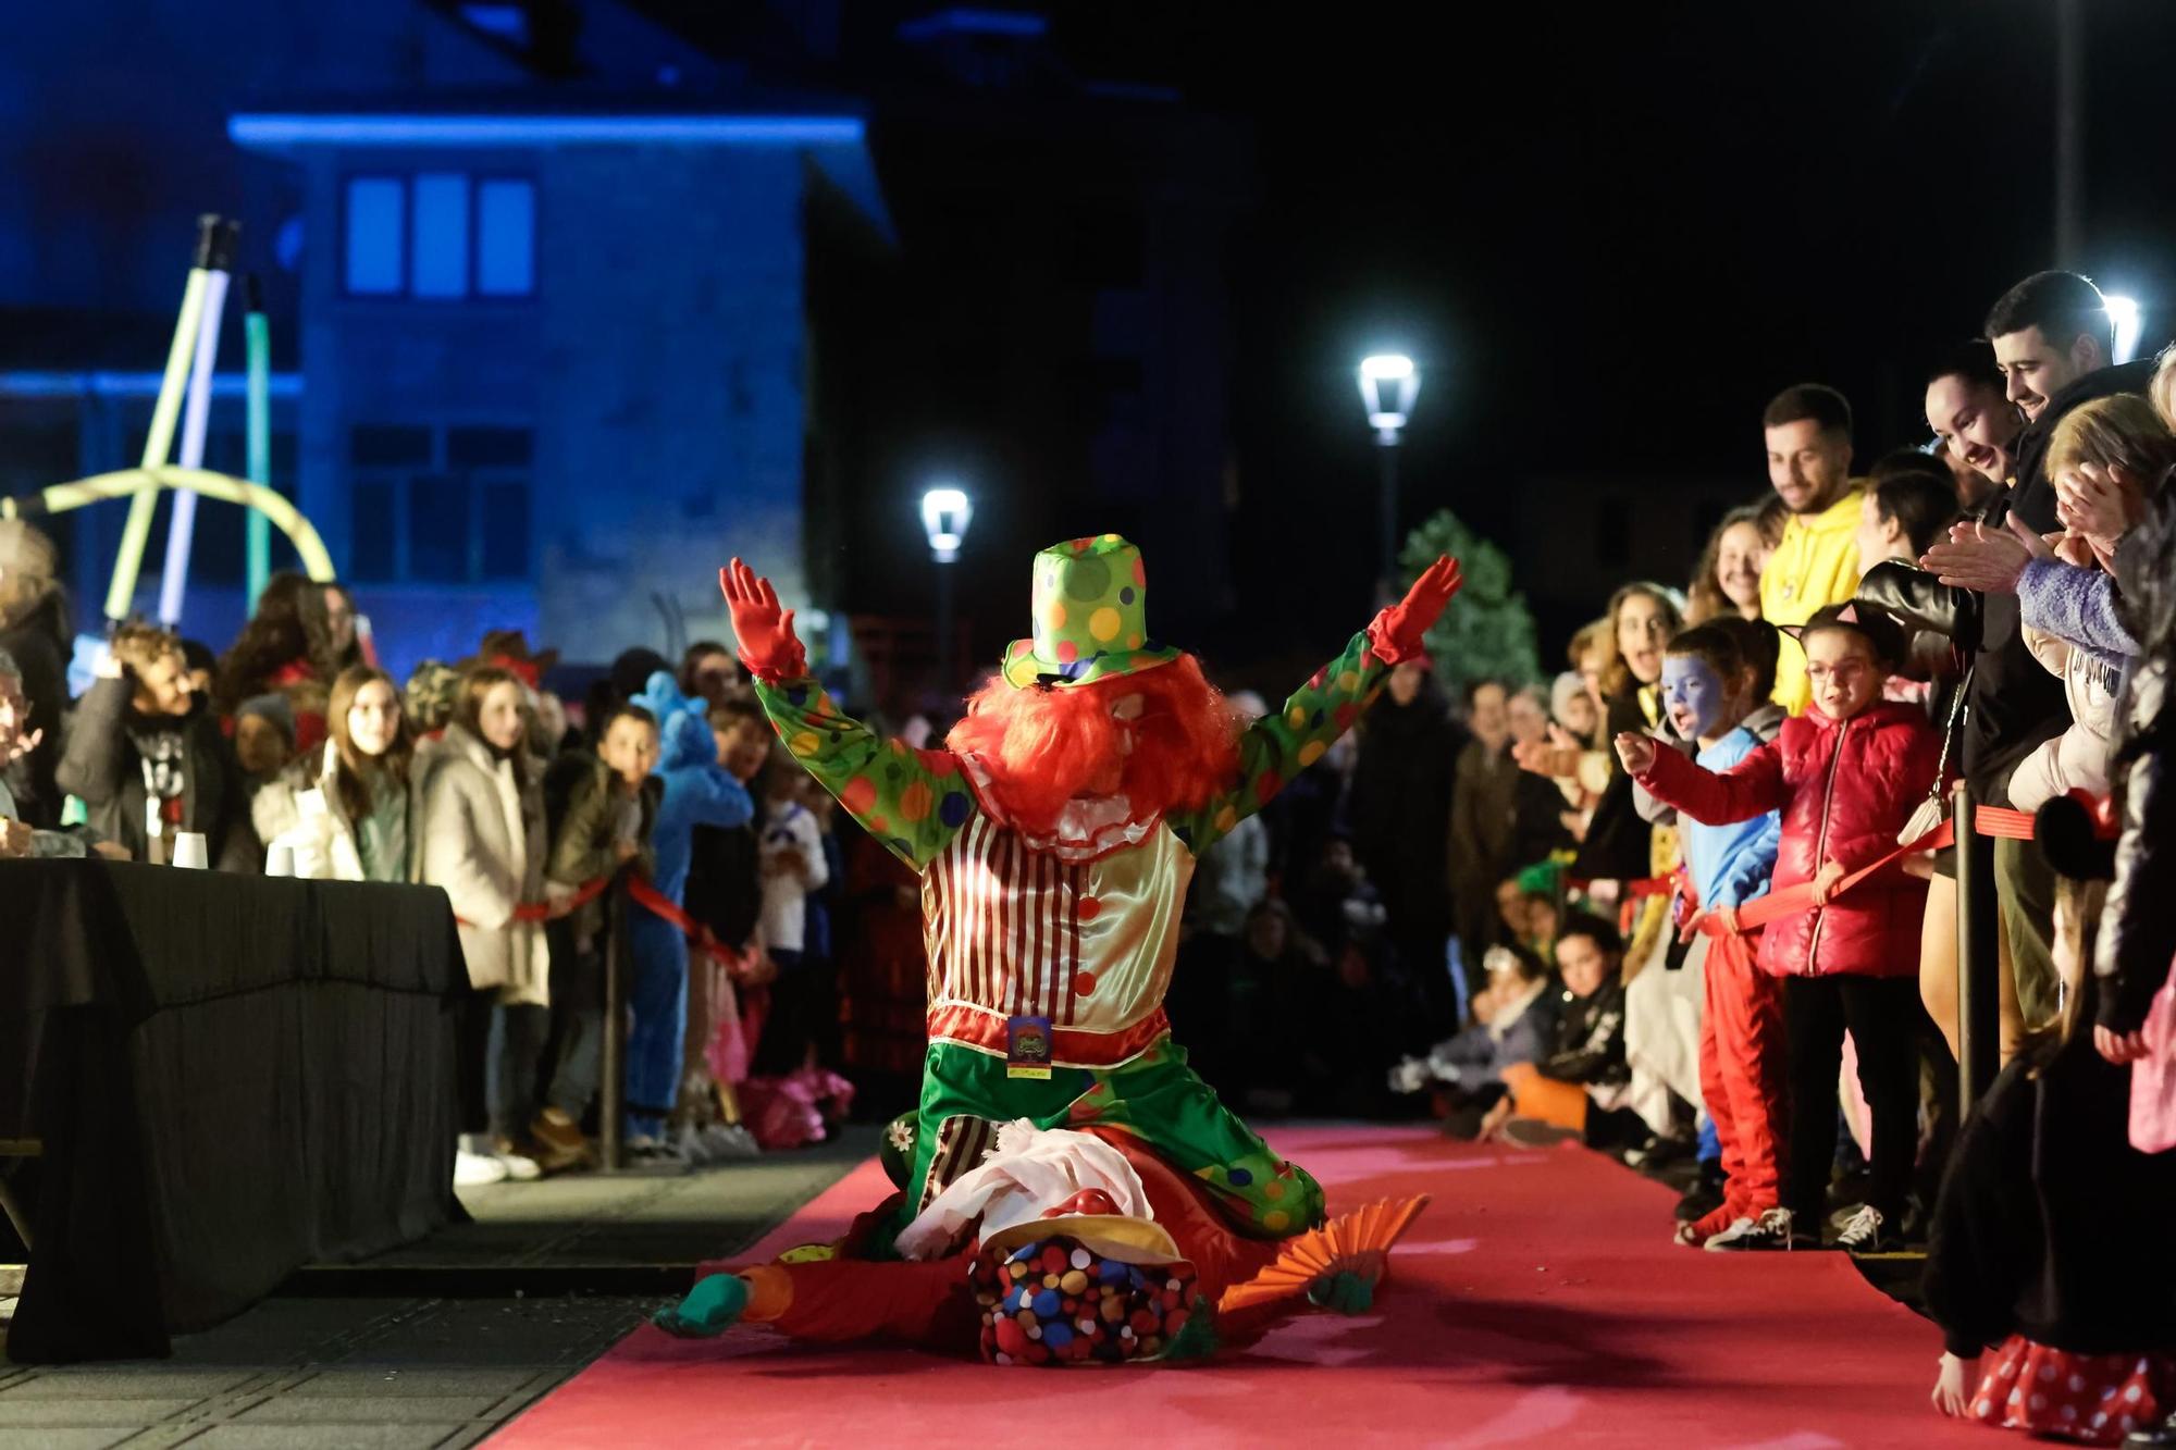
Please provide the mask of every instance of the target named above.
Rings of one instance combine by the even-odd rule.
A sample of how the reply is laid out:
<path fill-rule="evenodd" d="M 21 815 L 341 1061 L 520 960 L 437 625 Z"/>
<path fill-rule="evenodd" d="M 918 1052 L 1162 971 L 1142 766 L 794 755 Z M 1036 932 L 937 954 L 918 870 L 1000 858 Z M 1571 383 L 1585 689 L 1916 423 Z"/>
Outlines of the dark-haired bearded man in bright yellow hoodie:
<path fill-rule="evenodd" d="M 1815 610 L 1858 592 L 1858 494 L 1852 479 L 1852 405 L 1821 383 L 1778 392 L 1760 414 L 1767 433 L 1769 483 L 1791 509 L 1782 542 L 1760 570 L 1760 618 L 1804 625 Z M 1776 703 L 1806 710 L 1806 651 L 1782 638 Z"/>

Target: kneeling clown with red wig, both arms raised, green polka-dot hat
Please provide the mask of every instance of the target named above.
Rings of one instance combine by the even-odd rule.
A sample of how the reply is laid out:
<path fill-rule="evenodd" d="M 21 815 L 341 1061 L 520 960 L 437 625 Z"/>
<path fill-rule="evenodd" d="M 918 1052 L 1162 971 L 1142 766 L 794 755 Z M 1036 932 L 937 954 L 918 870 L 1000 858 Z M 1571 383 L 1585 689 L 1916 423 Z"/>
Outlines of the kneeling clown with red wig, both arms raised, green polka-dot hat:
<path fill-rule="evenodd" d="M 1164 991 L 1195 858 L 1358 718 L 1458 592 L 1436 560 L 1279 712 L 1240 729 L 1201 666 L 1147 629 L 1140 551 L 1116 533 L 1034 562 L 1034 634 L 968 701 L 949 749 L 851 721 L 809 677 L 792 612 L 722 575 L 740 658 L 786 747 L 923 880 L 929 1049 L 903 1193 L 853 1252 L 901 1230 L 997 1147 L 999 1126 L 1125 1134 L 1238 1234 L 1323 1221 L 1323 1193 L 1186 1067 Z"/>

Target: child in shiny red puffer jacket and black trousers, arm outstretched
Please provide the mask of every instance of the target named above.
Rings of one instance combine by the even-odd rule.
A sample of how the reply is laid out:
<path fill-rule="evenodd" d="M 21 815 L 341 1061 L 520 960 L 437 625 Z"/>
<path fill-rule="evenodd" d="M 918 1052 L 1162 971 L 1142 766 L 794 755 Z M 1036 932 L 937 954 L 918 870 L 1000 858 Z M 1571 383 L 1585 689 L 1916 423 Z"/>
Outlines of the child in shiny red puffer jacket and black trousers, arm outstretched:
<path fill-rule="evenodd" d="M 1837 1248 L 1900 1245 L 1897 1224 L 1917 1143 L 1913 1019 L 1919 1008 L 1919 919 L 1926 884 L 1887 862 L 1847 890 L 1843 877 L 1895 851 L 1897 832 L 1941 764 L 1941 736 L 1917 705 L 1882 699 L 1904 658 L 1904 631 L 1860 605 L 1828 607 L 1800 631 L 1813 705 L 1723 773 L 1645 736 L 1617 736 L 1617 758 L 1658 801 L 1721 825 L 1782 812 L 1773 895 L 1800 888 L 1806 910 L 1760 936 L 1760 969 L 1784 980 L 1791 1130 L 1782 1206 L 1734 1248 L 1819 1248 L 1837 1143 L 1843 1032 L 1874 1113 L 1874 1182 Z"/>

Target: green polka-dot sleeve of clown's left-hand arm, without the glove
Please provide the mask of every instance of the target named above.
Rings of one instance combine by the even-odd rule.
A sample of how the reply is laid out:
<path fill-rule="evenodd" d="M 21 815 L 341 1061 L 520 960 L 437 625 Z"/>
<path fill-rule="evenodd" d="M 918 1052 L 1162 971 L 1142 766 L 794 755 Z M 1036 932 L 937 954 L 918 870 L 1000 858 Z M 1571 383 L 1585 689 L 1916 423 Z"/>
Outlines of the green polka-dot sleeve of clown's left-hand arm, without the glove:
<path fill-rule="evenodd" d="M 916 871 L 938 858 L 975 814 L 975 795 L 951 751 L 881 740 L 814 679 L 755 681 L 786 749 L 855 821 Z"/>

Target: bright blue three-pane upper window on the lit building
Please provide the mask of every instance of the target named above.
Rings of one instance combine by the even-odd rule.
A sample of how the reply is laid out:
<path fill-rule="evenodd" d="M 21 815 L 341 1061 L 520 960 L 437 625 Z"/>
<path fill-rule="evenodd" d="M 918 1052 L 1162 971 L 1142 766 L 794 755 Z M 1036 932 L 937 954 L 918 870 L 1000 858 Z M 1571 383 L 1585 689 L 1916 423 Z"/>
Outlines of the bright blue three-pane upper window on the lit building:
<path fill-rule="evenodd" d="M 535 211 L 527 176 L 348 176 L 346 292 L 431 303 L 533 296 Z"/>

